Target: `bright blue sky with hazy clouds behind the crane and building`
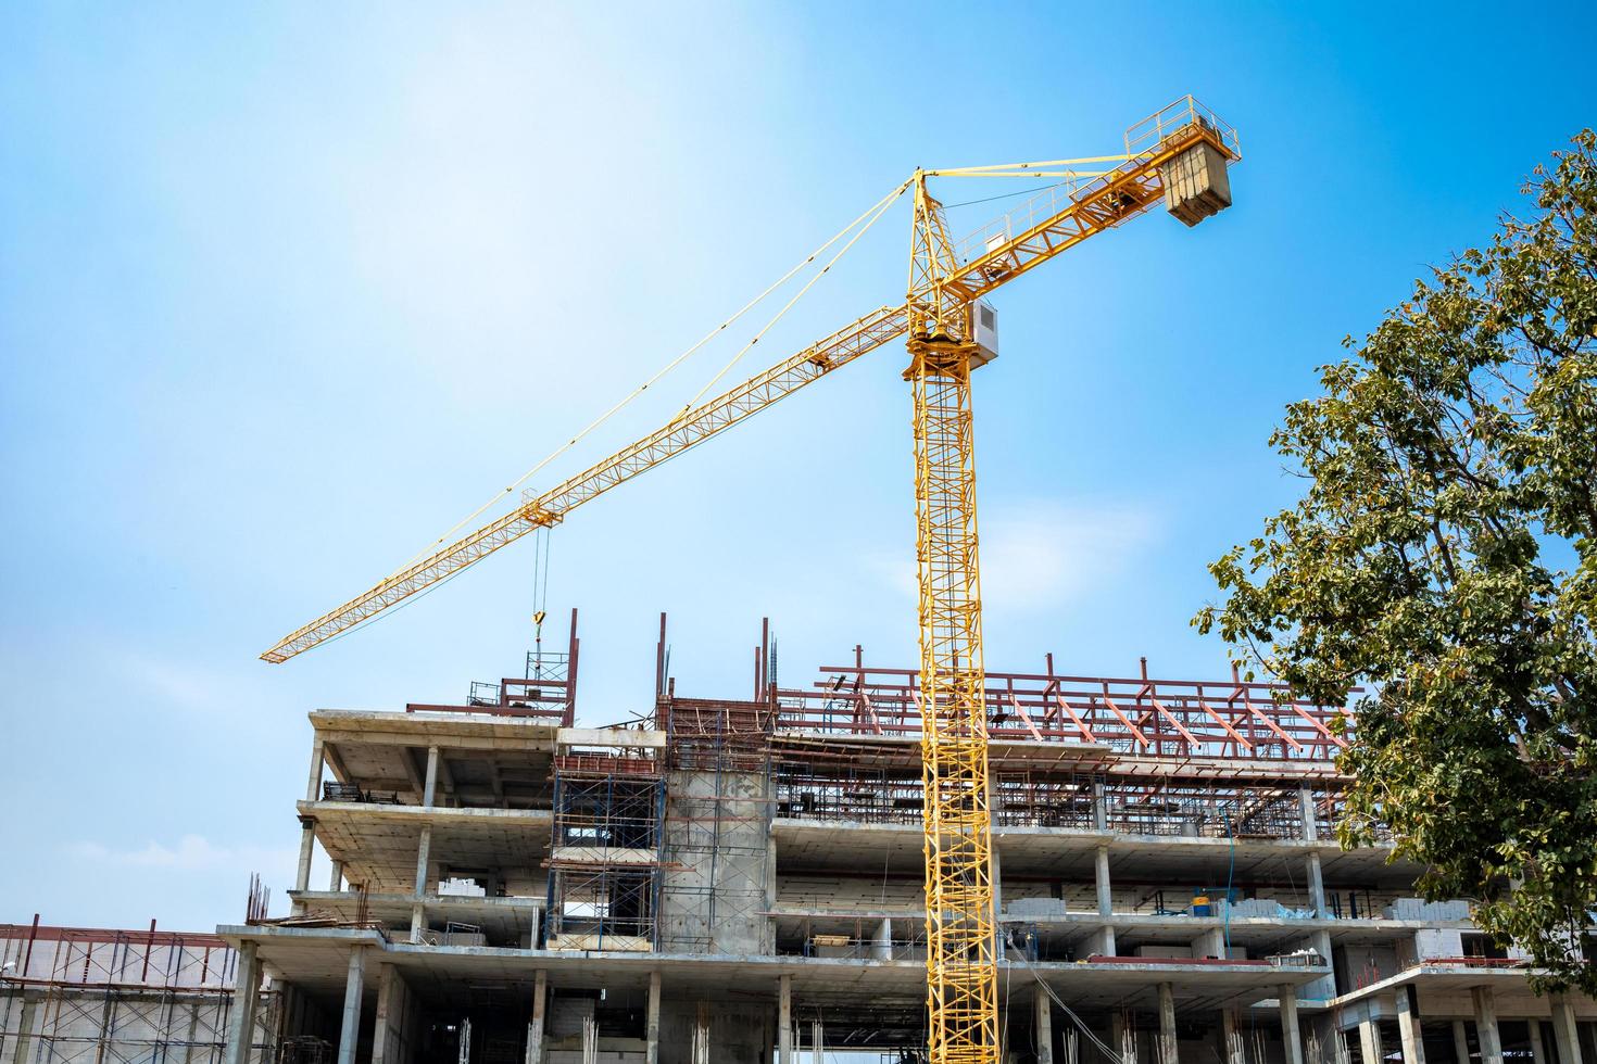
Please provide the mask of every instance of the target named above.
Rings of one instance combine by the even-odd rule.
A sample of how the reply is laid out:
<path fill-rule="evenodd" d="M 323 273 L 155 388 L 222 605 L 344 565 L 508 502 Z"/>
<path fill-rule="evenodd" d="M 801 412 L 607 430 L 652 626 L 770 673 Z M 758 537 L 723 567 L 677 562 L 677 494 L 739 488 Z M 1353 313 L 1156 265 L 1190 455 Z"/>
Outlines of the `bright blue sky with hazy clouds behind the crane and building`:
<path fill-rule="evenodd" d="M 1204 563 L 1295 491 L 1265 447 L 1281 407 L 1594 121 L 1575 43 L 1597 16 L 1195 16 L 6 5 L 0 920 L 206 928 L 241 916 L 251 871 L 281 900 L 305 713 L 513 675 L 530 542 L 287 665 L 260 649 L 917 164 L 1113 152 L 1188 91 L 1241 131 L 1236 207 L 1190 231 L 1158 212 L 995 298 L 987 660 L 1223 675 L 1187 621 L 1212 597 Z M 901 206 L 735 375 L 901 298 L 905 250 Z M 731 349 L 549 472 L 653 428 Z M 877 353 L 554 533 L 548 601 L 583 611 L 585 721 L 647 708 L 661 609 L 695 694 L 747 689 L 767 614 L 784 683 L 854 643 L 913 664 L 901 364 Z"/>

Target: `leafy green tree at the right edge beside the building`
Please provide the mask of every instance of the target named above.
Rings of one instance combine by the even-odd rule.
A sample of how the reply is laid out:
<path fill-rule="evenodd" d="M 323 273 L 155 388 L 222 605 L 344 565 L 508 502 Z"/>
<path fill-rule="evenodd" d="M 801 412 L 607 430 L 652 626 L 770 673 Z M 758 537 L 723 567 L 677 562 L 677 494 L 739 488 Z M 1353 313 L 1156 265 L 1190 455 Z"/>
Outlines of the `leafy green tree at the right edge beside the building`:
<path fill-rule="evenodd" d="M 1597 994 L 1597 137 L 1571 145 L 1287 408 L 1303 499 L 1209 566 L 1193 624 L 1354 699 L 1343 845 L 1389 831 L 1538 989 Z"/>

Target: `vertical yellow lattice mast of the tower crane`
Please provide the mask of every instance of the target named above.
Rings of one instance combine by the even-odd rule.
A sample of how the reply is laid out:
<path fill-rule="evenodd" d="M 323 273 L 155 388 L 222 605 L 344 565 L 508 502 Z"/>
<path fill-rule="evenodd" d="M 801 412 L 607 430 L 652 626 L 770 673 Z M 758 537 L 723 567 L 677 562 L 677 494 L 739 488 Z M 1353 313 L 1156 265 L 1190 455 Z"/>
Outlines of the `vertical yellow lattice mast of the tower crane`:
<path fill-rule="evenodd" d="M 915 175 L 909 368 L 915 399 L 921 826 L 931 1064 L 998 1059 L 982 595 L 976 555 L 973 303 L 944 292 L 957 260 L 942 206 Z"/>

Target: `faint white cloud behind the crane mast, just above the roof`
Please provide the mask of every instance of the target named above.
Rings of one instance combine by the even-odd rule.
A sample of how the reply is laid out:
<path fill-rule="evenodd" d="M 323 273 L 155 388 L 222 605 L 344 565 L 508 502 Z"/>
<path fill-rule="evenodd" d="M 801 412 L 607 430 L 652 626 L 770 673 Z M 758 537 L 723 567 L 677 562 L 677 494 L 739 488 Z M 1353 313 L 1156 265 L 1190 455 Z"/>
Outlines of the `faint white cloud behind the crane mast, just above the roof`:
<path fill-rule="evenodd" d="M 1009 613 L 1078 601 L 1153 539 L 1153 515 L 1132 504 L 995 507 L 981 518 L 982 601 Z M 915 597 L 913 558 L 878 555 L 870 568 L 904 597 Z"/>

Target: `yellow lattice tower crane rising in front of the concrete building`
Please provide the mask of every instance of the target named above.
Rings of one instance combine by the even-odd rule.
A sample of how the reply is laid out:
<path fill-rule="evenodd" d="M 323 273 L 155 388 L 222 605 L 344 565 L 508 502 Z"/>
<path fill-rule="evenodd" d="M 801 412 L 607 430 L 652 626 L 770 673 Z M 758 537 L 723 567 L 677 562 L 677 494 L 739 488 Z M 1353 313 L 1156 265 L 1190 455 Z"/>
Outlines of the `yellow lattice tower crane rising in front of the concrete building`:
<path fill-rule="evenodd" d="M 505 544 L 562 522 L 577 506 L 719 434 L 896 337 L 907 337 L 915 426 L 915 558 L 920 584 L 921 820 L 926 860 L 926 1011 L 931 1064 L 997 1064 L 998 941 L 982 598 L 976 536 L 971 372 L 997 353 L 981 298 L 1161 198 L 1196 225 L 1231 204 L 1226 167 L 1236 131 L 1191 96 L 1126 131 L 1124 152 L 917 171 L 909 295 L 882 306 L 514 510 L 401 568 L 371 590 L 291 632 L 260 657 L 284 662 L 375 617 Z M 1083 172 L 1083 164 L 1107 164 Z M 1057 177 L 1022 209 L 955 244 L 931 177 Z M 891 201 L 896 196 L 890 196 Z M 846 231 L 846 230 L 845 230 Z"/>

